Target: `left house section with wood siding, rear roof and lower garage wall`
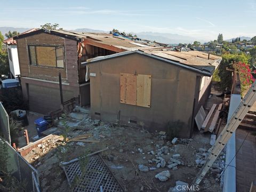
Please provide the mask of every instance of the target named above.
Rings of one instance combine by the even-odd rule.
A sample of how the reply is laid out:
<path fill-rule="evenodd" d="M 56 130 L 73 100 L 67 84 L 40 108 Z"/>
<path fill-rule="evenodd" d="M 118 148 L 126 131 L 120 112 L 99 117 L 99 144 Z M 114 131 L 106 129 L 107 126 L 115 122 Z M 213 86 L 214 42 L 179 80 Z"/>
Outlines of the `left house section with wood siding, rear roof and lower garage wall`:
<path fill-rule="evenodd" d="M 109 34 L 39 29 L 14 37 L 17 41 L 23 98 L 31 111 L 49 113 L 60 108 L 59 73 L 64 101 L 90 103 L 86 82 L 87 59 L 147 47 Z"/>

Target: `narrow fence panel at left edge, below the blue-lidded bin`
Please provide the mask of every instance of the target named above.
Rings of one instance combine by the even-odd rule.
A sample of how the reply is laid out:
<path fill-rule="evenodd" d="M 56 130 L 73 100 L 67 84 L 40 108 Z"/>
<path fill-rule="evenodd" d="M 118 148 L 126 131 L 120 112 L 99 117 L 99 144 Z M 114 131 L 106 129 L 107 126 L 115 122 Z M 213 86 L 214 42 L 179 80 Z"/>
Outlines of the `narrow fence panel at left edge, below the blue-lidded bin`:
<path fill-rule="evenodd" d="M 0 133 L 3 134 L 3 137 L 6 141 L 11 143 L 10 136 L 10 125 L 9 125 L 9 115 L 6 113 L 4 106 L 0 102 Z"/>

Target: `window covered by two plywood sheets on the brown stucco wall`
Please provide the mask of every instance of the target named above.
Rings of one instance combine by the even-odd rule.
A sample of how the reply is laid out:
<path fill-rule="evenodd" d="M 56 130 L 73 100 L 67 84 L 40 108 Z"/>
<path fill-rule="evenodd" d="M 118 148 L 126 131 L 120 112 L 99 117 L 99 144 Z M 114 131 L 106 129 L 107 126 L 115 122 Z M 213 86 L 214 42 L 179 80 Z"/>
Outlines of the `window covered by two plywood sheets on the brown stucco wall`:
<path fill-rule="evenodd" d="M 150 107 L 151 75 L 120 74 L 120 102 Z"/>

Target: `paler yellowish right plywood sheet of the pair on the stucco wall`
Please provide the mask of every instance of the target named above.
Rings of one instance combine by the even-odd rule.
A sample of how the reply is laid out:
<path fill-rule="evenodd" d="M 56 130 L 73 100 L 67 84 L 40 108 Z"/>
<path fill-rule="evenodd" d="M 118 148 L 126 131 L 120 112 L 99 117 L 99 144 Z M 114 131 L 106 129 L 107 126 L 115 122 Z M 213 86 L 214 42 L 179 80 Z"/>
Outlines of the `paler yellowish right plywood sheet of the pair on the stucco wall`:
<path fill-rule="evenodd" d="M 137 76 L 137 106 L 150 107 L 151 75 Z"/>

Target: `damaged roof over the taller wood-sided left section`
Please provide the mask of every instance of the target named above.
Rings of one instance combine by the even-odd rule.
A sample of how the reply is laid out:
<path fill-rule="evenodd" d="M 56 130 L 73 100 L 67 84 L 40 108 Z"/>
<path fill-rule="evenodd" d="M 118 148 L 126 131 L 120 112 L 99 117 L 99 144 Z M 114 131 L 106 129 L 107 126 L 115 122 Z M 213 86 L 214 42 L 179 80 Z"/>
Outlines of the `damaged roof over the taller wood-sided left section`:
<path fill-rule="evenodd" d="M 31 33 L 20 34 L 18 36 L 15 36 L 14 39 L 28 37 L 28 36 L 36 35 L 40 33 L 57 35 L 64 38 L 74 39 L 79 42 L 90 41 L 94 43 L 100 43 L 103 45 L 110 45 L 110 46 L 117 47 L 119 50 L 122 50 L 122 51 L 138 50 L 140 47 L 151 47 L 151 48 L 154 46 L 159 47 L 157 43 L 152 44 L 151 42 L 132 41 L 122 36 L 114 36 L 114 35 L 105 34 L 105 33 L 76 32 L 76 31 L 69 31 L 69 30 L 38 29 Z"/>

